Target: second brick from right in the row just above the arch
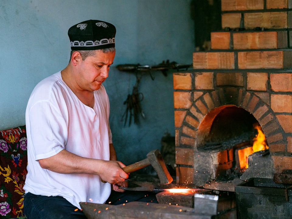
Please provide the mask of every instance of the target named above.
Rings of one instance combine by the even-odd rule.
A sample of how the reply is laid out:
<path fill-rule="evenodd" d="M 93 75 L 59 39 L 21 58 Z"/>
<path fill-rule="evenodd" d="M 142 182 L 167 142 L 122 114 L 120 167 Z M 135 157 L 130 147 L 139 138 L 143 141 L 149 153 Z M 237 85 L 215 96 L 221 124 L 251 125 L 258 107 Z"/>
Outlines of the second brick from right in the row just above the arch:
<path fill-rule="evenodd" d="M 266 91 L 267 90 L 267 73 L 248 72 L 247 88 L 248 90 Z"/>

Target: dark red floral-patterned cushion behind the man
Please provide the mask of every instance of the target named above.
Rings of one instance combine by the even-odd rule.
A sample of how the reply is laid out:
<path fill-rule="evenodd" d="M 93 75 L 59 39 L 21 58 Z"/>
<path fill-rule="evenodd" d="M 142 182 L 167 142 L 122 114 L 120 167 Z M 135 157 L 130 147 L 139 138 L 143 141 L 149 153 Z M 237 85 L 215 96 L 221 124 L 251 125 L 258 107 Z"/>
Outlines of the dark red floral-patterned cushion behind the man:
<path fill-rule="evenodd" d="M 0 218 L 24 216 L 26 149 L 25 126 L 0 131 Z"/>

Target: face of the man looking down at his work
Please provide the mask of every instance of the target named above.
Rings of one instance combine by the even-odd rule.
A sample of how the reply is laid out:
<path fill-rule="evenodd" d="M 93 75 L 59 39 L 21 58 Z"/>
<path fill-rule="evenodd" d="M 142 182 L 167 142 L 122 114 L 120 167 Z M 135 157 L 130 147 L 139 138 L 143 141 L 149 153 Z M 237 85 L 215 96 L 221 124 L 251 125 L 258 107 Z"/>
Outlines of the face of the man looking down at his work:
<path fill-rule="evenodd" d="M 103 53 L 102 50 L 96 50 L 94 56 L 88 56 L 84 61 L 80 59 L 78 72 L 75 75 L 79 89 L 98 90 L 109 76 L 109 66 L 113 64 L 115 54 L 116 52 Z"/>

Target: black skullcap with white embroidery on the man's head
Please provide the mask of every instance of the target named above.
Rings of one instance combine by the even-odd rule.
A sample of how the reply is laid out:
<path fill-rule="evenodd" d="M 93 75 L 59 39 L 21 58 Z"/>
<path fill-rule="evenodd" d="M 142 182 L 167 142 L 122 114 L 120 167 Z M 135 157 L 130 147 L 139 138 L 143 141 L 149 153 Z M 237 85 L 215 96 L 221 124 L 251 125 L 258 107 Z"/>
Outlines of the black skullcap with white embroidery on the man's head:
<path fill-rule="evenodd" d="M 71 50 L 99 50 L 115 47 L 116 27 L 100 20 L 87 20 L 71 26 Z"/>

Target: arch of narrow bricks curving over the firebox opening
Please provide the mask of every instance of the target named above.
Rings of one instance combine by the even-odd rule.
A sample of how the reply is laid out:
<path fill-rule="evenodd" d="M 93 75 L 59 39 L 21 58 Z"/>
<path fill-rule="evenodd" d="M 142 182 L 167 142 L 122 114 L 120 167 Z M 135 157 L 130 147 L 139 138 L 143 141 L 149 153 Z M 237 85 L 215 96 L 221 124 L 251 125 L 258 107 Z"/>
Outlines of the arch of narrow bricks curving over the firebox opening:
<path fill-rule="evenodd" d="M 194 94 L 193 94 L 194 95 Z M 196 96 L 196 95 L 194 95 Z M 234 87 L 202 93 L 187 111 L 179 129 L 180 143 L 195 146 L 209 133 L 212 120 L 226 107 L 236 106 L 251 113 L 266 135 L 270 151 L 287 153 L 287 139 L 275 113 L 260 96 Z"/>

